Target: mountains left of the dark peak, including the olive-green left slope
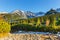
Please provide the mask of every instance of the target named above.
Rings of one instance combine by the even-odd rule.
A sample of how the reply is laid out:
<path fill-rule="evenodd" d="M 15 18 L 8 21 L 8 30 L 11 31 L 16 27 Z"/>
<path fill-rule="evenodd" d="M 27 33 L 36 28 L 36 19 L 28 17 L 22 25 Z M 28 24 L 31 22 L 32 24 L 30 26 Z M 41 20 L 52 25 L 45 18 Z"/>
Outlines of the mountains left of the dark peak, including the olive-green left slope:
<path fill-rule="evenodd" d="M 22 11 L 22 10 L 15 10 L 10 13 L 1 12 L 0 14 L 3 15 L 3 18 L 6 20 L 28 19 L 28 18 L 39 17 L 39 16 L 45 15 L 44 12 L 34 13 L 31 11 Z"/>

